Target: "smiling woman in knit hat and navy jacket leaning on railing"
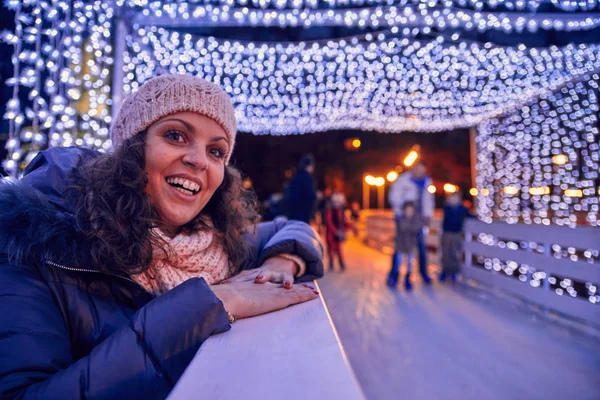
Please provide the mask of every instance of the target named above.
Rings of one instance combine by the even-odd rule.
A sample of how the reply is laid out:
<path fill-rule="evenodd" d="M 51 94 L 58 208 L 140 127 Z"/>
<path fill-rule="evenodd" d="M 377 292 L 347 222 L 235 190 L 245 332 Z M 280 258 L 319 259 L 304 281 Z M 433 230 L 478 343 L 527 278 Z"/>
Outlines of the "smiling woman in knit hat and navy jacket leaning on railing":
<path fill-rule="evenodd" d="M 255 224 L 220 88 L 154 78 L 111 139 L 0 183 L 2 399 L 164 399 L 209 336 L 317 297 L 293 283 L 323 275 L 318 236 Z"/>

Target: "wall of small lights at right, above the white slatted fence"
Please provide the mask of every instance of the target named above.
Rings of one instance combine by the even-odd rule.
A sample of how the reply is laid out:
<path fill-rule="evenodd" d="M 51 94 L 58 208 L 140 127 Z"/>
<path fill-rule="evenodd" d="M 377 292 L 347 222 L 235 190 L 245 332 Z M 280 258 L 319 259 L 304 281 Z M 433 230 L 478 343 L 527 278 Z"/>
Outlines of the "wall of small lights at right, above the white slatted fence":
<path fill-rule="evenodd" d="M 478 126 L 484 221 L 600 226 L 598 74 Z"/>

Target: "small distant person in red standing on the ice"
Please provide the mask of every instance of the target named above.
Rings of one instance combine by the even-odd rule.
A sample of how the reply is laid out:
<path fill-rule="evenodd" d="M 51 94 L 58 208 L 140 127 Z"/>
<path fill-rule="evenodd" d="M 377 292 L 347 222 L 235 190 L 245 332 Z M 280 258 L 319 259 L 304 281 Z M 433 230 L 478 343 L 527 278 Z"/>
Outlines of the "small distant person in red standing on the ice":
<path fill-rule="evenodd" d="M 325 209 L 325 237 L 327 241 L 327 255 L 329 256 L 329 270 L 333 271 L 333 259 L 337 255 L 340 270 L 344 271 L 342 257 L 342 242 L 346 240 L 346 220 L 344 217 L 344 204 L 346 197 L 342 193 L 334 193 Z"/>

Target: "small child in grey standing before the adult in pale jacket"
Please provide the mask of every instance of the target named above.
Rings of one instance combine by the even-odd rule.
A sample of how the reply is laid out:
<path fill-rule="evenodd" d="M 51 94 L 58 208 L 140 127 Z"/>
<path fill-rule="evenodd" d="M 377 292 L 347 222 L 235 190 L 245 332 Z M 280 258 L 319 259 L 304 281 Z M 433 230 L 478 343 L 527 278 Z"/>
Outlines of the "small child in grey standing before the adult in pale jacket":
<path fill-rule="evenodd" d="M 404 287 L 406 290 L 412 289 L 410 282 L 410 273 L 412 271 L 412 260 L 415 248 L 417 247 L 417 239 L 419 232 L 423 229 L 423 218 L 417 213 L 415 203 L 407 201 L 402 206 L 402 216 L 396 225 L 396 251 L 393 260 L 393 267 L 387 279 L 387 285 L 395 287 L 398 283 L 398 275 L 400 274 L 400 266 L 402 265 L 402 254 L 406 254 L 406 277 L 404 279 Z"/>

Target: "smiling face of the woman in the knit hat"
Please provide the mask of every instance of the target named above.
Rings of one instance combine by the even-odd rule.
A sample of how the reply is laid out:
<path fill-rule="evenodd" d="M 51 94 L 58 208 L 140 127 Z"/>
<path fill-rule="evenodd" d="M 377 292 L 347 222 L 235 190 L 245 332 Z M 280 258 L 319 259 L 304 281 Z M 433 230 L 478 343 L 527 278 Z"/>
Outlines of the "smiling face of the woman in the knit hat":
<path fill-rule="evenodd" d="M 177 229 L 196 217 L 223 182 L 229 141 L 214 120 L 179 112 L 146 137 L 146 193 L 163 223 Z"/>

